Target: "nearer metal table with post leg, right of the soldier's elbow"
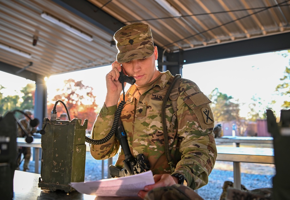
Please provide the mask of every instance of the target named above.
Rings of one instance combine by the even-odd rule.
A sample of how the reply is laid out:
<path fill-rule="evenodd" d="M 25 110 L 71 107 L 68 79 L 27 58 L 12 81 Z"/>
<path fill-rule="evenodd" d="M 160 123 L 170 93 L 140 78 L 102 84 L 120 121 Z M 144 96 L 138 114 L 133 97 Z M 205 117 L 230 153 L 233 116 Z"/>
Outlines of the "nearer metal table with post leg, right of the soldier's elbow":
<path fill-rule="evenodd" d="M 217 151 L 216 160 L 233 162 L 234 188 L 238 189 L 241 189 L 241 162 L 275 164 L 273 148 L 217 146 Z"/>

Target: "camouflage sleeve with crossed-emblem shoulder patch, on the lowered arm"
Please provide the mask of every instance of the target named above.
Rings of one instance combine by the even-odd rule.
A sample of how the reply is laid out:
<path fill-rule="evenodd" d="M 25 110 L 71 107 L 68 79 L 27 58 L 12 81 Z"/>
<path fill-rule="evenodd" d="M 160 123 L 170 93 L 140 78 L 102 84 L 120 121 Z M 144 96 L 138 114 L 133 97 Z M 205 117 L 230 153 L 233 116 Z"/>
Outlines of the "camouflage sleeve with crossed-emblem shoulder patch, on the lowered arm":
<path fill-rule="evenodd" d="M 198 189 L 208 183 L 217 150 L 213 134 L 214 118 L 209 105 L 211 101 L 195 83 L 191 84 L 181 87 L 181 98 L 177 100 L 177 133 L 182 138 L 182 156 L 175 173 L 183 174 L 188 186 Z"/>

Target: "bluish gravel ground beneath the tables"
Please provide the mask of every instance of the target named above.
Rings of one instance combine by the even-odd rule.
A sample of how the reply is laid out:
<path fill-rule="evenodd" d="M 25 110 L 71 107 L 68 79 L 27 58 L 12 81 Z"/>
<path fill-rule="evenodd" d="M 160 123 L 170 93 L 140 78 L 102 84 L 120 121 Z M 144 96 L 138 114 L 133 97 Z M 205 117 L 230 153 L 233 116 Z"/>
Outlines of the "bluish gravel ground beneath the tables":
<path fill-rule="evenodd" d="M 117 156 L 113 158 L 113 163 Z M 23 164 L 23 162 L 22 162 Z M 28 172 L 34 172 L 34 161 L 30 161 Z M 107 161 L 104 161 L 104 178 L 107 178 Z M 40 166 L 40 165 L 39 165 Z M 22 170 L 22 165 L 20 170 Z M 271 164 L 241 163 L 241 182 L 248 189 L 272 187 L 272 177 L 275 175 L 275 167 Z M 39 167 L 40 172 L 40 167 Z M 102 161 L 95 160 L 90 152 L 86 152 L 85 181 L 102 179 Z M 224 181 L 233 181 L 232 162 L 217 161 L 215 168 L 209 175 L 209 183 L 196 190 L 205 200 L 218 200 L 222 194 Z"/>

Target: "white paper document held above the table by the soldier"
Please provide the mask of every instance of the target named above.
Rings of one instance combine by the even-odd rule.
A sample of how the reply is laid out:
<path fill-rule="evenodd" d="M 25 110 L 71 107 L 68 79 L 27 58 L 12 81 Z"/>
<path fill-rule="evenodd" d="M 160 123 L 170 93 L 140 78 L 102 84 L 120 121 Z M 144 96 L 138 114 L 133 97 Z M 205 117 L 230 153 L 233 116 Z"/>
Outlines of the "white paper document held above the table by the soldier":
<path fill-rule="evenodd" d="M 136 175 L 102 179 L 99 181 L 72 182 L 79 193 L 96 196 L 135 197 L 145 186 L 154 184 L 151 170 Z"/>

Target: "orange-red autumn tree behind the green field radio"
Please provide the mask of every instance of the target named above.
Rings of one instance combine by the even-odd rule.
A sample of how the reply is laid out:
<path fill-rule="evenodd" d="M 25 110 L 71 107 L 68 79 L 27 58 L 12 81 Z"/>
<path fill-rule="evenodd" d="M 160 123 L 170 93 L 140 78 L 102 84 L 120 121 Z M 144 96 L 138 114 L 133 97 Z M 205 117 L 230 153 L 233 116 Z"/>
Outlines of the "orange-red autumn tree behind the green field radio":
<path fill-rule="evenodd" d="M 64 87 L 57 89 L 56 95 L 47 104 L 48 116 L 50 116 L 55 102 L 61 100 L 68 108 L 70 120 L 77 118 L 81 119 L 83 123 L 85 119 L 88 119 L 88 130 L 91 130 L 98 114 L 96 96 L 93 95 L 92 91 L 93 88 L 83 85 L 82 81 L 64 80 Z M 66 109 L 63 104 L 58 103 L 57 117 L 61 113 L 66 113 Z"/>

